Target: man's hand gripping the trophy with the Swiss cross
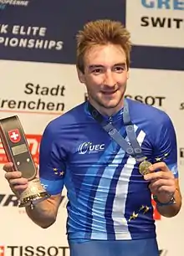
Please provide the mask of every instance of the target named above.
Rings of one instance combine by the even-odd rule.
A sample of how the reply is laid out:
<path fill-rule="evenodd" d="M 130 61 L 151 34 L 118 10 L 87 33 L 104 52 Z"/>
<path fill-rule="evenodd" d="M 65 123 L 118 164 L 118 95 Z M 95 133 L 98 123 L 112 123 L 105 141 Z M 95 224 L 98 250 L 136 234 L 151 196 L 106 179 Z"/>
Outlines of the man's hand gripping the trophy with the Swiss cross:
<path fill-rule="evenodd" d="M 8 180 L 9 187 L 11 187 L 13 193 L 19 197 L 20 194 L 28 187 L 28 180 L 22 177 L 21 172 L 13 170 L 13 163 L 8 162 L 3 166 L 5 178 Z"/>

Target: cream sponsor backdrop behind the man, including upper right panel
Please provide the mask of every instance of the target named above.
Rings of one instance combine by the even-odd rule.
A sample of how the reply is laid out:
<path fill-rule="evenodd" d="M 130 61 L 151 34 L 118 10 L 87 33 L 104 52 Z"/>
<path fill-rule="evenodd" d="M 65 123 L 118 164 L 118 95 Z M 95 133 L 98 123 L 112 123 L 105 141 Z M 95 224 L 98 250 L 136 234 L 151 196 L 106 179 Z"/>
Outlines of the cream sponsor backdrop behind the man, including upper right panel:
<path fill-rule="evenodd" d="M 141 25 L 142 17 L 146 17 L 149 25 Z M 167 18 L 165 22 L 167 25 L 170 24 L 168 21 L 170 18 L 171 28 L 165 23 L 162 27 L 151 26 L 153 18 Z M 176 28 L 176 21 L 173 21 L 173 18 L 181 18 L 179 28 Z M 126 1 L 126 27 L 132 34 L 134 44 L 183 48 L 183 18 L 184 2 L 181 0 Z M 151 59 L 149 61 L 151 62 Z M 84 101 L 84 85 L 79 83 L 74 64 L 0 60 L 0 70 L 2 89 L 0 116 L 1 118 L 10 115 L 19 116 L 33 159 L 38 161 L 39 141 L 43 129 L 50 120 Z M 171 116 L 178 141 L 182 194 L 184 192 L 183 84 L 182 71 L 130 69 L 126 92 L 126 95 L 132 99 L 142 100 L 146 104 L 165 110 Z M 6 156 L 0 144 L 0 168 L 5 161 Z M 0 181 L 0 256 L 68 256 L 69 250 L 65 251 L 62 248 L 68 246 L 65 235 L 65 191 L 56 223 L 48 229 L 42 229 L 28 219 L 23 208 L 17 207 L 16 198 L 13 197 L 4 179 L 3 171 L 0 172 Z M 159 248 L 163 250 L 161 255 L 183 256 L 183 207 L 175 218 L 162 218 L 156 212 L 155 216 Z"/>

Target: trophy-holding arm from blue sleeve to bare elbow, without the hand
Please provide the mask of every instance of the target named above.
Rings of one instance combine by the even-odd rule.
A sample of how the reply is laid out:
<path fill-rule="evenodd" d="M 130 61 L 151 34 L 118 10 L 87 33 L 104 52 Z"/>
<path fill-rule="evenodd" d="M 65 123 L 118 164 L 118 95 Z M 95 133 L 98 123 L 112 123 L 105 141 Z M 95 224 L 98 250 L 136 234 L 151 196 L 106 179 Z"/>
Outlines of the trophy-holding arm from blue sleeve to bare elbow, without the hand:
<path fill-rule="evenodd" d="M 51 197 L 38 202 L 33 209 L 26 207 L 28 217 L 41 228 L 49 228 L 55 222 L 62 198 L 66 165 L 63 146 L 66 143 L 64 140 L 60 142 L 59 138 L 61 134 L 51 122 L 43 132 L 40 143 L 38 178 Z"/>

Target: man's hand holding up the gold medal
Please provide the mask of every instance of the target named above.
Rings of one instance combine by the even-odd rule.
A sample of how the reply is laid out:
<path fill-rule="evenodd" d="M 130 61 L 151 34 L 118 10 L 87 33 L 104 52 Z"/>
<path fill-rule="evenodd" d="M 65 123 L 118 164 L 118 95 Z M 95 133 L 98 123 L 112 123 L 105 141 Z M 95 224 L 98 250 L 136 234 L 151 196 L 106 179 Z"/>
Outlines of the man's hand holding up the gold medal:
<path fill-rule="evenodd" d="M 163 161 L 153 164 L 149 170 L 151 173 L 146 174 L 144 178 L 151 182 L 149 185 L 151 193 L 157 197 L 159 202 L 169 202 L 176 192 L 173 173 Z"/>

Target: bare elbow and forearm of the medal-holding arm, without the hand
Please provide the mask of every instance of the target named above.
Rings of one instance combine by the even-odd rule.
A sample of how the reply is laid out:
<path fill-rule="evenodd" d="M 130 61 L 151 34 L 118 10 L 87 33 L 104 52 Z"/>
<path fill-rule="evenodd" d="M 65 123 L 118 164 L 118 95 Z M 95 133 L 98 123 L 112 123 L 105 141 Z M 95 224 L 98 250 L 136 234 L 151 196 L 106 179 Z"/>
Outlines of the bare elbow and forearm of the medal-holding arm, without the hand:
<path fill-rule="evenodd" d="M 174 198 L 176 203 L 168 206 L 158 206 L 156 205 L 157 211 L 164 217 L 171 218 L 176 216 L 181 209 L 181 192 L 178 179 L 175 179 L 176 182 L 176 192 L 174 193 Z M 159 200 L 159 197 L 158 197 Z M 159 200 L 160 201 L 160 200 Z"/>

